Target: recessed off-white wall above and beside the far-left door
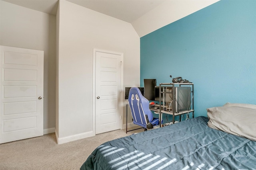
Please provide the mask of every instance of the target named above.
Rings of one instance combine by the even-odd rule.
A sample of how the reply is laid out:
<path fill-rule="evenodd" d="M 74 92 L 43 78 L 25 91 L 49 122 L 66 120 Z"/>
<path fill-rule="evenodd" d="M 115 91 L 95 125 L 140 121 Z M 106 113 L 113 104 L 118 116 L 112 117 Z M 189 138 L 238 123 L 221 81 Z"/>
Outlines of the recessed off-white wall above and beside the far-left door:
<path fill-rule="evenodd" d="M 44 129 L 54 132 L 56 17 L 2 0 L 0 3 L 0 45 L 44 51 Z"/>

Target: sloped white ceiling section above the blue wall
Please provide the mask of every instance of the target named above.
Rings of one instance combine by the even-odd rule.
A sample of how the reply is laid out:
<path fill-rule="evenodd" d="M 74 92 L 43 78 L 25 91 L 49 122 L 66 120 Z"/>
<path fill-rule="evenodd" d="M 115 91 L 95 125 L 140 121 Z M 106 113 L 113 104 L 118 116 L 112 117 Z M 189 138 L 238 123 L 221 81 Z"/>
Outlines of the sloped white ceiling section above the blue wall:
<path fill-rule="evenodd" d="M 219 0 L 166 0 L 150 12 L 132 22 L 140 37 L 188 16 Z"/>

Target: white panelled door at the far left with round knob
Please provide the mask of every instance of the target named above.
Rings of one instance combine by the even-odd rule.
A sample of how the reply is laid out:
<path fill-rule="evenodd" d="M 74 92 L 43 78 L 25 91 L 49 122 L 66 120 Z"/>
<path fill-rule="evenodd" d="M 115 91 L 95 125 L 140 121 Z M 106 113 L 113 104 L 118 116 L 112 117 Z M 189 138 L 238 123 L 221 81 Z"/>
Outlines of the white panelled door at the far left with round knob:
<path fill-rule="evenodd" d="M 0 143 L 43 135 L 44 51 L 0 53 Z"/>

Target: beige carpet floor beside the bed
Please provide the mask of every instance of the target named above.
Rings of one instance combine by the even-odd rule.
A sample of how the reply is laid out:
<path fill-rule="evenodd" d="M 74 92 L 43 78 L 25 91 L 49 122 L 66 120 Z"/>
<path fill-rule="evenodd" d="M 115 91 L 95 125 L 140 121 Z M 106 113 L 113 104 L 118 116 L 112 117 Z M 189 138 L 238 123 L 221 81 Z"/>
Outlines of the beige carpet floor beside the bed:
<path fill-rule="evenodd" d="M 54 133 L 0 145 L 0 170 L 79 170 L 86 158 L 104 142 L 144 131 L 102 133 L 61 145 Z"/>

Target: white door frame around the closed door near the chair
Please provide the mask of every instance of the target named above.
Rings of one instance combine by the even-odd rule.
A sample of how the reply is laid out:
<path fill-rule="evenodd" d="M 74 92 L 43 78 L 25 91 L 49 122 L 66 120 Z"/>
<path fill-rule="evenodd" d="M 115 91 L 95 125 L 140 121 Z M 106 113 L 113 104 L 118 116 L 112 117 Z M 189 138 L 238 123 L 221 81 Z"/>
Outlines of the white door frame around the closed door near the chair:
<path fill-rule="evenodd" d="M 93 48 L 93 71 L 92 71 L 92 133 L 96 135 L 96 52 L 108 53 L 119 55 L 121 57 L 121 92 L 120 92 L 120 108 L 121 108 L 121 123 L 120 129 L 122 129 L 123 125 L 123 105 L 124 105 L 124 94 L 123 94 L 123 81 L 124 81 L 124 53 L 119 53 L 115 51 L 108 51 L 102 49 Z"/>

